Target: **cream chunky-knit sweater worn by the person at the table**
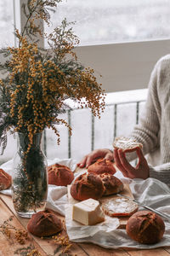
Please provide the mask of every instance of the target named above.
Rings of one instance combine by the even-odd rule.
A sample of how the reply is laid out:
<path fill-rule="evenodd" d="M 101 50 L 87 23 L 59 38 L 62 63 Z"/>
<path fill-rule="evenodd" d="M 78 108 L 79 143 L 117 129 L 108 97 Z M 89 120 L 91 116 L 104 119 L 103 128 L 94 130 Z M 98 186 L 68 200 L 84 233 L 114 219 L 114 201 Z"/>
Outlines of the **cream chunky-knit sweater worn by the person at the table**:
<path fill-rule="evenodd" d="M 157 61 L 151 73 L 144 113 L 131 137 L 148 154 L 150 177 L 170 185 L 170 55 Z"/>

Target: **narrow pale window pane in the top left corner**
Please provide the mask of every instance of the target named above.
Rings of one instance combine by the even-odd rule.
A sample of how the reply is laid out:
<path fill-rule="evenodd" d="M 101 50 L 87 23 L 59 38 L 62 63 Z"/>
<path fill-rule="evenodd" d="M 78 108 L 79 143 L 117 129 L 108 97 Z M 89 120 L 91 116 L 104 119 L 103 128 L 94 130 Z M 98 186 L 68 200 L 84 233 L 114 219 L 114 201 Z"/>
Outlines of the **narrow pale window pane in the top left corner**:
<path fill-rule="evenodd" d="M 12 0 L 0 1 L 0 47 L 14 46 L 14 6 Z"/>

